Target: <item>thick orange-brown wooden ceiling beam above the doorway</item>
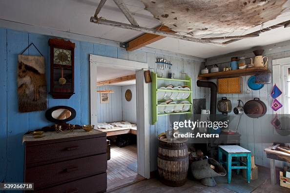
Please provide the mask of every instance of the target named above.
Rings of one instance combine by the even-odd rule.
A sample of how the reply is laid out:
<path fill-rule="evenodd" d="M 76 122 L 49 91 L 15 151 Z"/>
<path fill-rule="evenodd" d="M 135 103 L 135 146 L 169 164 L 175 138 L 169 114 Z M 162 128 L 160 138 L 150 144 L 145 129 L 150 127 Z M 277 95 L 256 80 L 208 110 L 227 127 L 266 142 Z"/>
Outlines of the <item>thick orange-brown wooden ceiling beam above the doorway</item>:
<path fill-rule="evenodd" d="M 161 30 L 163 32 L 169 32 L 169 33 L 176 33 L 175 31 L 171 30 L 169 27 L 162 25 L 156 28 L 156 30 Z M 164 36 L 160 36 L 160 35 L 155 35 L 155 34 L 148 34 L 145 33 L 141 36 L 139 36 L 138 38 L 135 38 L 131 41 L 129 41 L 128 47 L 126 47 L 127 51 L 134 51 L 137 50 L 138 48 L 144 47 L 150 43 L 153 43 L 155 41 L 158 41 L 160 39 L 164 39 Z"/>

